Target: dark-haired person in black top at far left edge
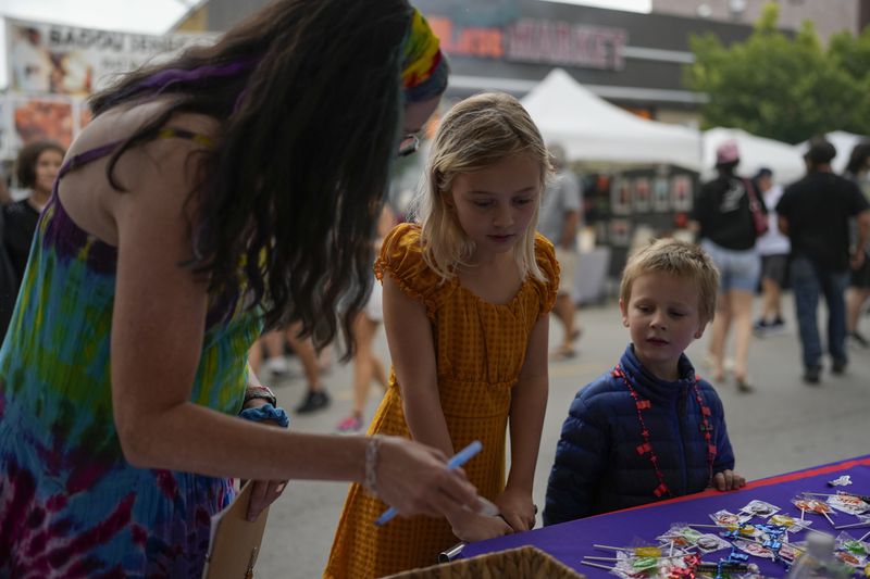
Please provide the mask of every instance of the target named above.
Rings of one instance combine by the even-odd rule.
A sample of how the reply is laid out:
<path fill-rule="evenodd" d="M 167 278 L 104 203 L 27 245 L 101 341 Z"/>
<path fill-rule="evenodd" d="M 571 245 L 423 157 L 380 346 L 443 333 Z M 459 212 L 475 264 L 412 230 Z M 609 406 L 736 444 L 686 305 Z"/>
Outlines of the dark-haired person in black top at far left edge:
<path fill-rule="evenodd" d="M 17 280 L 16 293 L 27 267 L 27 256 L 39 214 L 51 198 L 64 154 L 66 151 L 54 141 L 35 141 L 24 146 L 15 161 L 18 184 L 30 190 L 26 199 L 3 207 L 3 246 Z"/>

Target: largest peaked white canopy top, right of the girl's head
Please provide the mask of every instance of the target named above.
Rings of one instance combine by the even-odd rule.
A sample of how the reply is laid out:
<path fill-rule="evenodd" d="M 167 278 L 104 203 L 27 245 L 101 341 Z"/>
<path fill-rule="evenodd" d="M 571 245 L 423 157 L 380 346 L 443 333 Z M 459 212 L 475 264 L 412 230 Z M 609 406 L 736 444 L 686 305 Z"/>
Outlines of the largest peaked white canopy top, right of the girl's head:
<path fill-rule="evenodd" d="M 522 99 L 548 143 L 570 161 L 672 164 L 700 169 L 697 130 L 641 118 L 584 88 L 556 68 Z"/>

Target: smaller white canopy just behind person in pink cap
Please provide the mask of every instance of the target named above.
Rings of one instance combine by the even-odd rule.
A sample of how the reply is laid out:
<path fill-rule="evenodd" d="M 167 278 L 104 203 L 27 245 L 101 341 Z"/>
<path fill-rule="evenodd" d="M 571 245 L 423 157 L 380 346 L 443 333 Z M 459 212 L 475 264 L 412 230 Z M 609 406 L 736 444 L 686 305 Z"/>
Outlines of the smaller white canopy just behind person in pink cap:
<path fill-rule="evenodd" d="M 773 172 L 773 180 L 790 184 L 804 176 L 804 159 L 800 152 L 785 142 L 766 139 L 739 128 L 711 128 L 704 131 L 704 171 L 701 178 L 716 176 L 716 149 L 726 140 L 735 140 L 741 152 L 739 175 L 751 177 L 759 168 Z"/>

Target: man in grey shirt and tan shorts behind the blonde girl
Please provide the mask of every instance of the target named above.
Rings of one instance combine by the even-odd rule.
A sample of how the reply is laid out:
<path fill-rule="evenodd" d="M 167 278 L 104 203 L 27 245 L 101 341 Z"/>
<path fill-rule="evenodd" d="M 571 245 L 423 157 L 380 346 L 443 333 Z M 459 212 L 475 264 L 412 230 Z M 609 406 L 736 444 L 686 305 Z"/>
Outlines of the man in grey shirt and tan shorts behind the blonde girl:
<path fill-rule="evenodd" d="M 552 353 L 554 360 L 576 355 L 574 340 L 580 337 L 574 305 L 573 282 L 577 266 L 577 228 L 581 222 L 582 191 L 576 176 L 566 166 L 566 152 L 559 144 L 549 147 L 556 178 L 547 188 L 540 206 L 538 231 L 556 247 L 556 259 L 561 273 L 559 292 L 552 311 L 564 328 L 561 345 Z"/>

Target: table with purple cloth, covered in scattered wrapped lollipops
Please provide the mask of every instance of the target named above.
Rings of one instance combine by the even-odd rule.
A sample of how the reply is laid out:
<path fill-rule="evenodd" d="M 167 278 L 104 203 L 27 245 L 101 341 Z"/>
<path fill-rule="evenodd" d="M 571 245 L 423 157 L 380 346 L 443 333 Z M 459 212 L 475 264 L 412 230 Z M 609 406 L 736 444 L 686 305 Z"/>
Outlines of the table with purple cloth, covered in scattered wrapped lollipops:
<path fill-rule="evenodd" d="M 870 455 L 857 456 L 756 480 L 739 491 L 710 489 L 457 545 L 452 558 L 470 563 L 481 555 L 501 555 L 504 562 L 511 550 L 534 547 L 560 564 L 558 572 L 545 577 L 786 577 L 792 562 L 806 550 L 807 538 L 822 533 L 834 542 L 834 556 L 854 577 L 866 577 L 868 488 Z M 471 576 L 450 575 L 449 567 L 409 577 Z M 566 567 L 575 575 L 561 570 Z M 746 575 L 749 569 L 754 572 Z M 478 576 L 483 575 L 474 577 Z"/>

